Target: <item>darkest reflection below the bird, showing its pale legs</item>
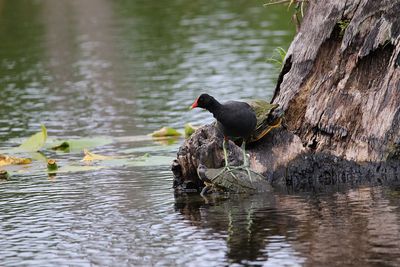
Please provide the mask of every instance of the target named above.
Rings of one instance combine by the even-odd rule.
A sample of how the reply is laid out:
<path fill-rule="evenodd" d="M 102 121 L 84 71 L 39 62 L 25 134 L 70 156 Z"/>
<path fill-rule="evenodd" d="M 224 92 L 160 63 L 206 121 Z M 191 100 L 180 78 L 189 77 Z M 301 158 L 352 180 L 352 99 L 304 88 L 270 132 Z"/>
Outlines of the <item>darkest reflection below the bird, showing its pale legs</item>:
<path fill-rule="evenodd" d="M 192 225 L 226 236 L 226 256 L 232 263 L 267 260 L 264 248 L 268 236 L 282 235 L 286 231 L 276 227 L 276 222 L 288 225 L 293 221 L 276 212 L 274 205 L 275 197 L 271 194 L 211 195 L 206 199 L 198 195 L 175 197 L 175 210 Z"/>

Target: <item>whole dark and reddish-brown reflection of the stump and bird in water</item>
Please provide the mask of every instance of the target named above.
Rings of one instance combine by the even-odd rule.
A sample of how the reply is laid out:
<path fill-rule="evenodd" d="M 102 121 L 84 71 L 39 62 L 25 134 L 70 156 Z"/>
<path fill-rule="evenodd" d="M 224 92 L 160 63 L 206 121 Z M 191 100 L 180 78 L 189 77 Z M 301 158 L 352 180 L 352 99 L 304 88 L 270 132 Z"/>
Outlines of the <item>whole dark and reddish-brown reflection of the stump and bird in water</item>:
<path fill-rule="evenodd" d="M 231 263 L 398 265 L 398 193 L 361 188 L 331 195 L 277 193 L 206 201 L 177 196 L 175 209 L 191 225 L 226 236 Z"/>

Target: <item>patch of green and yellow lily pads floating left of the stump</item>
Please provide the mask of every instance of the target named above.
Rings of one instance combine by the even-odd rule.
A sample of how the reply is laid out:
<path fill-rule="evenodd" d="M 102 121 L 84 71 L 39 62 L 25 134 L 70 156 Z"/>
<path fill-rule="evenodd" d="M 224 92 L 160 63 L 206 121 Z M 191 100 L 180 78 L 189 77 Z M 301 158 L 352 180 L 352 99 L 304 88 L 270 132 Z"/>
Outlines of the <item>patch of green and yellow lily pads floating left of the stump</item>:
<path fill-rule="evenodd" d="M 153 139 L 151 136 L 139 136 L 134 137 L 133 140 L 138 141 L 139 139 L 144 141 L 151 140 L 167 140 L 168 138 L 176 138 L 180 136 L 177 130 L 172 128 L 164 127 L 157 131 L 154 135 Z M 129 138 L 132 140 L 132 137 Z M 121 166 L 132 166 L 132 167 L 141 167 L 141 166 L 160 166 L 160 165 L 169 165 L 173 159 L 173 157 L 164 157 L 164 156 L 150 156 L 145 154 L 142 157 L 132 158 L 131 155 L 127 155 L 126 152 L 122 151 L 121 153 L 125 154 L 122 156 L 103 156 L 101 154 L 95 154 L 87 150 L 88 148 L 104 146 L 110 144 L 112 142 L 123 142 L 125 139 L 114 139 L 107 137 L 94 137 L 94 138 L 79 138 L 79 139 L 70 139 L 70 140 L 56 140 L 47 138 L 47 130 L 45 126 L 42 126 L 42 131 L 34 134 L 29 137 L 25 141 L 21 143 L 20 146 L 16 148 L 6 149 L 4 153 L 27 153 L 34 162 L 32 163 L 32 159 L 23 158 L 23 157 L 14 157 L 14 156 L 6 156 L 0 154 L 0 166 L 4 166 L 4 173 L 7 175 L 32 175 L 43 173 L 44 171 L 51 176 L 54 176 L 58 173 L 70 173 L 70 172 L 86 172 L 86 171 L 96 171 L 104 168 L 114 168 Z M 46 143 L 47 142 L 47 143 Z M 53 150 L 62 150 L 62 151 L 82 151 L 84 149 L 85 157 L 84 164 L 78 162 L 65 161 L 62 166 L 58 166 L 58 162 L 53 159 L 47 159 L 46 156 L 37 152 L 38 150 L 43 149 L 43 146 L 47 149 Z M 148 149 L 147 149 L 148 150 Z M 154 149 L 150 149 L 150 151 L 154 151 Z M 48 153 L 49 151 L 47 151 Z M 138 152 L 138 151 L 136 151 Z M 146 151 L 143 151 L 146 152 Z M 2 152 L 0 152 L 2 153 Z M 30 164 L 32 163 L 32 164 Z M 89 163 L 89 164 L 88 164 Z M 22 165 L 25 164 L 25 165 Z M 29 165 L 26 165 L 29 164 Z M 46 170 L 43 170 L 43 167 L 46 166 Z M 5 174 L 4 174 L 5 175 Z"/>

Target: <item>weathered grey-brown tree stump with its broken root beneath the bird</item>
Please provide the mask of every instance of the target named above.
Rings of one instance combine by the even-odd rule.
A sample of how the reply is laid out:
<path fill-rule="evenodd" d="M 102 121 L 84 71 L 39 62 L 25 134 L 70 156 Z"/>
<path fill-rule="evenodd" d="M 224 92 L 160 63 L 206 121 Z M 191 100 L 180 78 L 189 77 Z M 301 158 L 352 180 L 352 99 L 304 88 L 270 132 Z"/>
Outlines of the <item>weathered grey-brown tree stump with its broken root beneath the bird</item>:
<path fill-rule="evenodd" d="M 400 179 L 399 14 L 400 0 L 309 2 L 272 99 L 286 127 L 249 147 L 252 170 L 297 189 Z M 196 168 L 222 167 L 221 146 L 199 129 L 173 163 L 175 185 L 201 186 Z"/>

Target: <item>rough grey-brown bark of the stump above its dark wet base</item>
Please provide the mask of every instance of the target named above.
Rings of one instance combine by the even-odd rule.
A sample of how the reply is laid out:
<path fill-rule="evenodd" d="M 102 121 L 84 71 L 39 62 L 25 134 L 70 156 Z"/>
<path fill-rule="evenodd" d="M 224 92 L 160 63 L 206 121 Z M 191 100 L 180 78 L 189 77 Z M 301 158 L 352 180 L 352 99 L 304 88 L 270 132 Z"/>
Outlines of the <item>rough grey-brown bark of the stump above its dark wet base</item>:
<path fill-rule="evenodd" d="M 273 98 L 303 145 L 359 162 L 398 149 L 399 14 L 398 0 L 310 2 Z"/>

